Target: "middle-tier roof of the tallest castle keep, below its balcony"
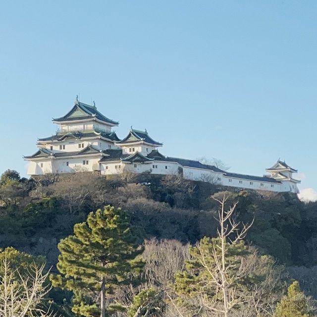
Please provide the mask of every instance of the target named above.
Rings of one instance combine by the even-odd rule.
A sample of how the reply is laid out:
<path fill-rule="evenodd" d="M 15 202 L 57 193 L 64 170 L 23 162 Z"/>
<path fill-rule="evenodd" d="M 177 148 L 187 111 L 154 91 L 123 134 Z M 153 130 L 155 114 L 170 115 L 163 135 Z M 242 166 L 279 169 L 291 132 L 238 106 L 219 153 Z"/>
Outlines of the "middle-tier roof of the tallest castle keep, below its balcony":
<path fill-rule="evenodd" d="M 97 129 L 94 129 L 93 131 L 90 131 L 90 132 L 72 131 L 72 132 L 66 132 L 65 134 L 55 134 L 55 135 L 52 135 L 51 137 L 38 139 L 38 141 L 39 142 L 54 142 L 54 141 L 63 141 L 66 138 L 80 140 L 80 139 L 90 139 L 90 138 L 96 138 L 96 137 L 102 137 L 104 139 L 107 139 L 113 142 L 120 141 L 120 139 L 117 137 L 114 131 L 104 132 L 104 131 L 99 131 Z"/>

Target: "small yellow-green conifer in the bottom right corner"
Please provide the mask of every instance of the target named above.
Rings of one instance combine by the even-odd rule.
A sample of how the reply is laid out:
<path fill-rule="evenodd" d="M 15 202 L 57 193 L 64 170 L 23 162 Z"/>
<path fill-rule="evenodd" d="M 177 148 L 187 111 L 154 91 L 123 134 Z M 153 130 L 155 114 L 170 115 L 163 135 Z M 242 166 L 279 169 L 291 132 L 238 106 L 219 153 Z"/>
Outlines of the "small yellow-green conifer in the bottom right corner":
<path fill-rule="evenodd" d="M 309 298 L 301 291 L 298 281 L 293 282 L 287 295 L 277 304 L 275 317 L 311 317 Z"/>

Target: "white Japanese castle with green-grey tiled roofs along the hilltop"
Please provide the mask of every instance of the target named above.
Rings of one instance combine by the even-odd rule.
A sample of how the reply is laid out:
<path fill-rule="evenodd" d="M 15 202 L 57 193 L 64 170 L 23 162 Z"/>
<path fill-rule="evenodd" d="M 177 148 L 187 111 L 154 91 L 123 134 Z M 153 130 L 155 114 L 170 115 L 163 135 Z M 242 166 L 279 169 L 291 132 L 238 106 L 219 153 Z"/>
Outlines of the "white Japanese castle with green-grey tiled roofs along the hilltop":
<path fill-rule="evenodd" d="M 162 143 L 152 139 L 148 132 L 130 129 L 119 139 L 111 129 L 118 122 L 101 114 L 95 104 L 78 101 L 60 118 L 53 119 L 58 130 L 55 135 L 38 139 L 38 151 L 25 156 L 29 161 L 28 174 L 98 172 L 102 175 L 151 173 L 173 175 L 181 173 L 185 179 L 210 181 L 223 186 L 298 193 L 297 172 L 278 160 L 267 168 L 268 175 L 252 176 L 230 173 L 196 160 L 163 156 Z"/>

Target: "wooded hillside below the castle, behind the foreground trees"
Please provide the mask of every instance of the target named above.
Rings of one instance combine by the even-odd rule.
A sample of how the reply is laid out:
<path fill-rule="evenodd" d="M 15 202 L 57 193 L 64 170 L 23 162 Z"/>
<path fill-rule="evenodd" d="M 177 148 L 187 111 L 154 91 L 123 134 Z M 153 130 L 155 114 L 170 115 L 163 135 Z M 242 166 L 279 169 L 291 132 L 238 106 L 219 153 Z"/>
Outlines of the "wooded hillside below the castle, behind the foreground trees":
<path fill-rule="evenodd" d="M 202 296 L 209 299 L 212 307 L 217 308 L 217 300 L 225 298 L 225 295 L 217 298 L 213 293 L 214 286 L 208 282 L 210 277 L 204 272 L 204 266 L 200 266 L 203 260 L 199 260 L 202 257 L 199 250 L 205 248 L 204 261 L 209 261 L 210 267 L 216 265 L 212 246 L 220 241 L 216 237 L 219 228 L 218 212 L 221 207 L 219 202 L 223 197 L 226 198 L 223 202 L 225 211 L 237 203 L 232 214 L 237 227 L 227 237 L 229 244 L 237 230 L 243 229 L 242 223 L 253 222 L 241 240 L 242 244 L 239 242 L 239 246 L 228 245 L 228 252 L 235 258 L 233 263 L 236 267 L 236 271 L 233 270 L 230 276 L 233 278 L 240 274 L 241 277 L 238 284 L 230 284 L 228 288 L 236 289 L 235 296 L 244 303 L 248 302 L 250 306 L 241 312 L 238 309 L 238 301 L 232 306 L 229 315 L 224 315 L 220 308 L 217 311 L 208 311 L 208 305 L 204 301 L 205 306 L 202 302 L 189 300 L 193 296 Z M 128 282 L 126 277 L 123 277 L 129 271 L 127 263 L 118 266 L 121 273 L 119 270 L 114 275 L 107 273 L 107 276 L 111 276 L 109 280 L 112 284 L 109 283 L 112 286 L 105 286 L 109 287 L 109 290 L 105 291 L 105 314 L 169 317 L 211 316 L 212 312 L 212 316 L 273 316 L 277 303 L 287 290 L 286 284 L 293 278 L 300 282 L 306 295 L 317 298 L 317 273 L 314 267 L 317 265 L 317 204 L 304 204 L 291 193 L 223 188 L 210 183 L 184 180 L 178 175 L 125 174 L 105 178 L 91 173 L 77 173 L 47 175 L 28 180 L 20 178 L 17 172 L 8 170 L 0 179 L 0 202 L 2 254 L 18 250 L 15 252 L 32 257 L 41 256 L 47 269 L 52 266 L 52 276 L 56 276 L 52 277 L 54 288 L 46 296 L 51 298 L 51 309 L 63 316 L 100 316 L 100 304 L 97 300 L 100 286 L 95 286 L 94 291 L 83 295 L 82 290 L 79 291 L 81 286 L 78 285 L 82 285 L 86 279 L 76 284 L 75 289 L 69 287 L 69 282 L 63 284 L 64 277 L 58 274 L 62 273 L 61 265 L 66 265 L 67 261 L 56 266 L 58 261 L 65 257 L 61 255 L 61 244 L 57 247 L 58 243 L 76 232 L 76 224 L 86 223 L 87 217 L 92 217 L 91 212 L 94 214 L 95 211 L 101 210 L 100 217 L 107 217 L 103 213 L 106 212 L 108 217 L 122 218 L 123 214 L 119 211 L 116 213 L 118 208 L 127 216 L 124 225 L 133 233 L 135 248 L 140 246 L 137 253 L 142 254 L 143 266 L 140 264 L 137 270 L 132 269 L 132 266 L 129 269 L 129 276 L 139 274 L 133 282 L 131 278 Z M 106 211 L 105 206 L 113 206 L 114 213 Z M 95 232 L 93 229 L 89 230 L 87 232 L 91 232 L 90 234 Z M 120 232 L 117 232 L 118 241 L 121 239 Z M 81 241 L 76 234 L 74 237 L 75 240 Z M 107 239 L 107 235 L 98 239 Z M 92 246 L 91 250 L 94 248 Z M 78 252 L 84 252 L 80 250 L 78 249 Z M 137 253 L 135 256 L 139 259 Z M 130 257 L 132 261 L 132 255 Z M 228 259 L 232 263 L 232 259 Z M 115 263 L 120 261 L 116 259 Z M 242 269 L 242 263 L 248 264 L 247 271 L 243 273 L 239 271 Z M 126 269 L 124 274 L 122 265 Z M 103 275 L 104 269 L 98 269 L 101 269 L 100 274 Z M 217 270 L 216 266 L 214 269 Z M 68 271 L 67 268 L 64 270 Z M 117 279 L 120 274 L 123 274 L 120 283 L 123 283 L 124 287 L 117 288 L 116 284 L 119 282 L 114 281 L 114 276 Z M 61 276 L 59 280 L 57 276 Z M 93 277 L 90 277 L 89 283 L 93 283 L 92 279 Z M 209 285 L 206 286 L 209 293 L 204 294 L 205 297 L 197 289 L 197 285 L 202 283 Z M 251 304 L 250 294 L 255 294 L 254 285 L 262 292 L 258 298 L 266 299 L 265 303 L 259 302 L 258 306 Z M 269 288 L 274 291 L 268 292 Z M 243 292 L 239 293 L 241 290 Z M 305 303 L 308 306 L 311 305 L 299 286 L 293 287 L 292 296 L 295 296 L 294 292 L 300 294 L 298 296 L 302 296 L 304 301 L 307 300 Z M 245 294 L 250 296 L 244 297 Z M 289 301 L 290 299 L 285 297 L 278 306 L 278 316 L 291 316 L 282 315 L 281 308 Z M 89 309 L 85 308 L 84 302 Z M 264 304 L 269 306 L 270 310 Z M 77 307 L 76 312 L 74 307 Z M 255 315 L 257 309 L 259 314 Z M 298 316 L 313 316 L 312 314 L 313 309 L 308 309 L 307 313 Z"/>

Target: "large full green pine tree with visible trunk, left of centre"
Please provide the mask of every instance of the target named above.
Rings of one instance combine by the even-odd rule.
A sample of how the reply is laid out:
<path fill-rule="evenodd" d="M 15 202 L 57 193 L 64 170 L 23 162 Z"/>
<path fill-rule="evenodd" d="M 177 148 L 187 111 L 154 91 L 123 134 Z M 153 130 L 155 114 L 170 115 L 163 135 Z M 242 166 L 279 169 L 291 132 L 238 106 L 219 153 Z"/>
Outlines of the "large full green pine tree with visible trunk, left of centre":
<path fill-rule="evenodd" d="M 60 241 L 53 286 L 73 292 L 72 312 L 85 317 L 106 317 L 108 295 L 121 283 L 133 282 L 143 266 L 138 257 L 137 234 L 126 212 L 107 206 L 91 212 L 86 222 L 74 225 L 74 235 Z M 107 302 L 106 302 L 107 301 Z"/>

